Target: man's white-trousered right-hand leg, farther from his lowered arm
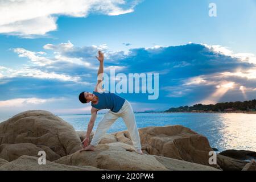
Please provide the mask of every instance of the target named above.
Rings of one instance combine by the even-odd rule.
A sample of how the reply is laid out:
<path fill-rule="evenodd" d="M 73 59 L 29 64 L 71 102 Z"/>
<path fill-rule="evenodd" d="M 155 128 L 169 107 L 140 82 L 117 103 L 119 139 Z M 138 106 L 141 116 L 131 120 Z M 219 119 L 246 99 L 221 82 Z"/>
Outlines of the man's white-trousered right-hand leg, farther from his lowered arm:
<path fill-rule="evenodd" d="M 126 108 L 124 112 L 122 113 L 123 121 L 125 121 L 126 127 L 130 133 L 131 140 L 133 142 L 134 148 L 142 154 L 141 152 L 141 138 L 139 137 L 139 131 L 137 128 L 135 115 L 133 112 L 133 108 L 131 107 L 131 104 L 127 102 Z"/>

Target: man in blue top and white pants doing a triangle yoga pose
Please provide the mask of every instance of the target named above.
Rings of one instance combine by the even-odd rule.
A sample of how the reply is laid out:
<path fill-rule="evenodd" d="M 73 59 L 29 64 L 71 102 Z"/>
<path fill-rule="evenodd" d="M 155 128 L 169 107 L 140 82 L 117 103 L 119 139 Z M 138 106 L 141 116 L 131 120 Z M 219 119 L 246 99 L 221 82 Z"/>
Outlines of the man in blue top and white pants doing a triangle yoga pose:
<path fill-rule="evenodd" d="M 127 129 L 130 133 L 131 140 L 133 142 L 135 152 L 138 154 L 143 154 L 141 150 L 141 139 L 139 137 L 139 131 L 135 121 L 135 115 L 133 113 L 133 108 L 131 107 L 130 102 L 125 100 L 122 97 L 117 96 L 117 94 L 110 92 L 103 92 L 102 90 L 102 75 L 104 73 L 104 54 L 101 51 L 98 51 L 98 61 L 100 61 L 100 67 L 98 69 L 98 79 L 97 84 L 93 93 L 81 92 L 79 95 L 79 100 L 83 104 L 91 102 L 91 118 L 88 123 L 86 138 L 82 141 L 84 148 L 81 151 L 93 151 L 94 146 L 96 146 L 103 135 L 108 131 L 109 127 L 117 120 L 119 117 L 122 117 L 123 121 L 127 126 Z M 104 117 L 98 123 L 98 127 L 93 136 L 92 141 L 90 142 L 89 137 L 92 133 L 93 125 L 96 120 L 97 111 L 101 109 L 110 109 Z M 89 144 L 90 142 L 90 144 Z"/>

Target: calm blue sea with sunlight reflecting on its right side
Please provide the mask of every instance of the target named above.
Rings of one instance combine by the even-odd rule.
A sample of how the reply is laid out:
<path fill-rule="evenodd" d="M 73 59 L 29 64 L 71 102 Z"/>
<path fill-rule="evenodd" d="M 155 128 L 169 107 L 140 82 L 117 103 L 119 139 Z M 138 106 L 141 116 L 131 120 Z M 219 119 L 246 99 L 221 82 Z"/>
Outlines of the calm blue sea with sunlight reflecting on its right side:
<path fill-rule="evenodd" d="M 104 114 L 98 114 L 94 130 Z M 75 130 L 86 130 L 90 114 L 58 115 Z M 218 152 L 235 149 L 256 151 L 256 114 L 244 113 L 135 113 L 137 127 L 183 125 L 208 138 Z M 107 133 L 127 130 L 122 118 Z"/>

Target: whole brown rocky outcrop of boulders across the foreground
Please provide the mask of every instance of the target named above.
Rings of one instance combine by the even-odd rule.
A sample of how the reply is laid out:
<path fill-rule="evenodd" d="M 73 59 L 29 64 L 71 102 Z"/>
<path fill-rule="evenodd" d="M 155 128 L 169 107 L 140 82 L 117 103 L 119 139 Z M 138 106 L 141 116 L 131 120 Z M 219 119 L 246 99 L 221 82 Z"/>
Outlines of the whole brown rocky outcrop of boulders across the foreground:
<path fill-rule="evenodd" d="M 208 163 L 212 148 L 207 138 L 186 127 L 146 127 L 139 129 L 139 134 L 143 155 L 134 151 L 128 131 L 106 134 L 95 151 L 80 152 L 85 131 L 76 132 L 69 123 L 48 111 L 26 111 L 0 123 L 0 169 L 216 170 L 218 167 Z M 38 152 L 42 150 L 49 165 L 38 164 Z M 241 160 L 217 156 L 217 163 L 224 170 L 245 167 L 246 162 Z"/>

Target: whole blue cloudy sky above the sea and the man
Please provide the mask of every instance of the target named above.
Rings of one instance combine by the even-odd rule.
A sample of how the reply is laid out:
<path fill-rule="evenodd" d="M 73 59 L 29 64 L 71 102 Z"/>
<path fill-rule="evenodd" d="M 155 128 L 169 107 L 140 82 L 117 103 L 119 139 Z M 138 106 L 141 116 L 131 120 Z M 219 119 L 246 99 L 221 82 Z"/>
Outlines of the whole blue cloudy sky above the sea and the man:
<path fill-rule="evenodd" d="M 159 73 L 158 99 L 119 94 L 134 111 L 255 99 L 255 22 L 253 0 L 0 1 L 0 116 L 90 113 L 98 50 L 107 74 Z"/>

